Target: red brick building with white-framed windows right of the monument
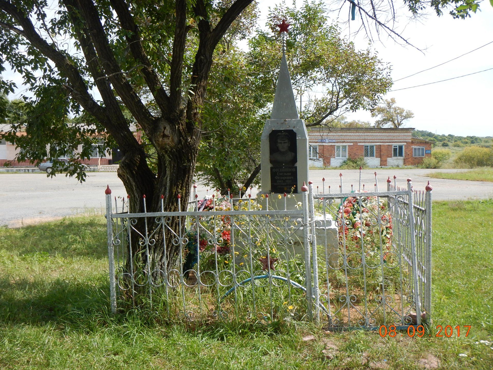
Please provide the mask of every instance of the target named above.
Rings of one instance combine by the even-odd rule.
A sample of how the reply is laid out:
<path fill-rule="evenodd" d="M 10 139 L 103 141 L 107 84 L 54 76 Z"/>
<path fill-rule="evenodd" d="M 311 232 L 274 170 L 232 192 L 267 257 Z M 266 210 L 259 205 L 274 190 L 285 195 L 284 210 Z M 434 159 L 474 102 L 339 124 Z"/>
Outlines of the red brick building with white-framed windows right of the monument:
<path fill-rule="evenodd" d="M 340 166 L 363 157 L 370 167 L 417 165 L 431 155 L 432 141 L 412 136 L 414 128 L 314 128 L 308 132 L 310 165 Z"/>

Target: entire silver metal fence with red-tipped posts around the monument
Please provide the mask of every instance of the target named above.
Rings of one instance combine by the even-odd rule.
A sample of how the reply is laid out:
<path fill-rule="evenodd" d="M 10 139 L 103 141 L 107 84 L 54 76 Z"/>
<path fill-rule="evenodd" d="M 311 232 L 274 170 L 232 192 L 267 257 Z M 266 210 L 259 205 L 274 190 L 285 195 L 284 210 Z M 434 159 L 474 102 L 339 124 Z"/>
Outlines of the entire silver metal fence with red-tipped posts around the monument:
<path fill-rule="evenodd" d="M 293 210 L 291 194 L 194 194 L 184 211 L 150 213 L 144 202 L 139 214 L 108 188 L 111 310 L 148 304 L 176 319 L 314 320 L 330 330 L 419 325 L 431 308 L 431 188 L 377 184 L 343 192 L 341 180 L 338 193 L 310 184 Z"/>

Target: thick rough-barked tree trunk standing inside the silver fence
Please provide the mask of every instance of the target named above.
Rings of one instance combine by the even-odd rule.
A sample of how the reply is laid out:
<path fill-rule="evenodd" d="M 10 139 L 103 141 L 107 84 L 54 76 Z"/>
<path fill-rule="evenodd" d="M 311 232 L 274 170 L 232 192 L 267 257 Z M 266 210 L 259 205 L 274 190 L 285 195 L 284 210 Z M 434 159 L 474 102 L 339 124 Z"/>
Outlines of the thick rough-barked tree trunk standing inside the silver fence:
<path fill-rule="evenodd" d="M 168 148 L 166 154 L 158 155 L 157 177 L 149 169 L 143 150 L 141 152 L 129 151 L 124 155 L 118 169 L 118 177 L 130 196 L 131 213 L 144 212 L 144 202 L 147 213 L 161 212 L 162 209 L 167 212 L 178 211 L 178 194 L 181 210 L 186 210 L 197 157 L 197 146 L 186 142 L 178 141 L 176 148 L 172 150 Z M 147 235 L 159 228 L 151 238 L 152 244 L 146 243 L 141 237 L 141 235 L 146 235 L 144 218 L 139 218 L 137 223 L 132 225 L 141 235 L 137 232 L 132 233 L 130 241 L 132 253 L 128 254 L 125 272 L 133 274 L 136 271 L 146 271 L 147 273 L 150 269 L 153 278 L 157 278 L 164 271 L 172 269 L 179 271 L 180 247 L 173 243 L 173 239 L 176 238 L 175 235 L 184 234 L 185 220 L 181 219 L 181 230 L 178 217 L 172 218 L 166 224 L 171 230 L 166 228 L 166 239 L 164 240 L 160 223 L 156 222 L 154 217 L 147 218 Z M 163 253 L 164 244 L 166 244 L 166 255 Z M 133 256 L 132 264 L 130 256 Z M 131 271 L 131 266 L 133 271 Z"/>

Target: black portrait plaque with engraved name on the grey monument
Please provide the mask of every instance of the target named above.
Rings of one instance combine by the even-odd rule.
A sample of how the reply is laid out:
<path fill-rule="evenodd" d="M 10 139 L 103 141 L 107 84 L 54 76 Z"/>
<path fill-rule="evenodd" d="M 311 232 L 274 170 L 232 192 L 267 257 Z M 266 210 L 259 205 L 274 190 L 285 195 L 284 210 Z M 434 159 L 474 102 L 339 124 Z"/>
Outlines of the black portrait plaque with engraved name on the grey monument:
<path fill-rule="evenodd" d="M 297 193 L 297 149 L 294 130 L 273 130 L 269 134 L 271 191 Z"/>

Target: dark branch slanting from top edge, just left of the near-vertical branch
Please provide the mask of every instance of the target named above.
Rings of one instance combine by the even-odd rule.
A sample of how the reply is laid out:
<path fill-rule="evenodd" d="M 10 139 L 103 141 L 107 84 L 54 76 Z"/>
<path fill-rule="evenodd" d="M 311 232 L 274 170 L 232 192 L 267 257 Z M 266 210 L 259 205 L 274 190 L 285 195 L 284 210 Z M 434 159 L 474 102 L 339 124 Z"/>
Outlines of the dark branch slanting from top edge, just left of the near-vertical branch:
<path fill-rule="evenodd" d="M 134 22 L 128 4 L 125 0 L 110 0 L 110 3 L 118 15 L 122 28 L 132 33 L 130 36 L 127 35 L 126 39 L 135 60 L 144 67 L 141 69 L 141 72 L 144 76 L 145 83 L 149 87 L 161 111 L 167 111 L 169 109 L 170 99 L 159 81 L 159 76 L 147 58 L 147 54 L 142 46 L 139 27 Z"/>

